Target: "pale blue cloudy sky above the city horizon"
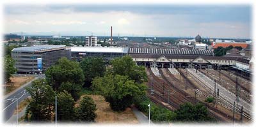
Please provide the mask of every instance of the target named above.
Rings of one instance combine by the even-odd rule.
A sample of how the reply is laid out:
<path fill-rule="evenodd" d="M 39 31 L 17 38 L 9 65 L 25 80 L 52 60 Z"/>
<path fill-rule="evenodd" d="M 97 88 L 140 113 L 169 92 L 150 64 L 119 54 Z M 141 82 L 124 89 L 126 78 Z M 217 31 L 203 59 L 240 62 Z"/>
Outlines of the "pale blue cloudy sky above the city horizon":
<path fill-rule="evenodd" d="M 252 6 L 6 4 L 4 33 L 251 38 Z"/>

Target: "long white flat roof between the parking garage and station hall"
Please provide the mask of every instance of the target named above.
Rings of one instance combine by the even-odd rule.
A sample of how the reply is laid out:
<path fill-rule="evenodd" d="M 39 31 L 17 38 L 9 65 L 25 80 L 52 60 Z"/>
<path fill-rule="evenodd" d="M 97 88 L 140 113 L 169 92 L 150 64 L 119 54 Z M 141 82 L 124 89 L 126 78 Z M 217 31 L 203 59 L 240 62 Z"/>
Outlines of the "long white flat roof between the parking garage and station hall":
<path fill-rule="evenodd" d="M 128 53 L 128 47 L 68 47 L 71 52 Z"/>

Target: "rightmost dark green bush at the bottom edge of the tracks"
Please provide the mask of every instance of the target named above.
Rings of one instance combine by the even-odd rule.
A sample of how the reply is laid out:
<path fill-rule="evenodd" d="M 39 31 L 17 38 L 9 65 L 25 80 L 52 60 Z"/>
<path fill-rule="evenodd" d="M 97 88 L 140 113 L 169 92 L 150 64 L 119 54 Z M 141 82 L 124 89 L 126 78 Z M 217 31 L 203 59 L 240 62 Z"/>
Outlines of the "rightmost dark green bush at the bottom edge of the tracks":
<path fill-rule="evenodd" d="M 175 110 L 177 114 L 177 121 L 183 122 L 204 122 L 211 121 L 212 118 L 208 116 L 208 110 L 202 103 L 185 103 L 180 105 L 178 110 Z"/>

